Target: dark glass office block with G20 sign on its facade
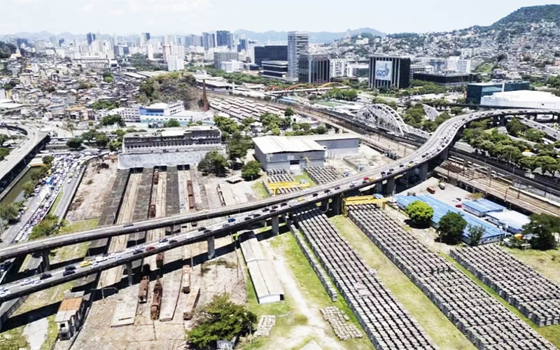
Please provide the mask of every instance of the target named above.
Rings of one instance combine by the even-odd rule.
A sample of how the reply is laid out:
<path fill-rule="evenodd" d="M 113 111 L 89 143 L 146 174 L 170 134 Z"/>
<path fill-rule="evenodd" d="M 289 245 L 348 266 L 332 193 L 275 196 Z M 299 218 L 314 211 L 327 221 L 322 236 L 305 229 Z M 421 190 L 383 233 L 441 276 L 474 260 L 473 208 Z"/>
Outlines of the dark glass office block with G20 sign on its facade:
<path fill-rule="evenodd" d="M 370 57 L 370 88 L 403 89 L 410 85 L 410 59 L 395 56 Z"/>

